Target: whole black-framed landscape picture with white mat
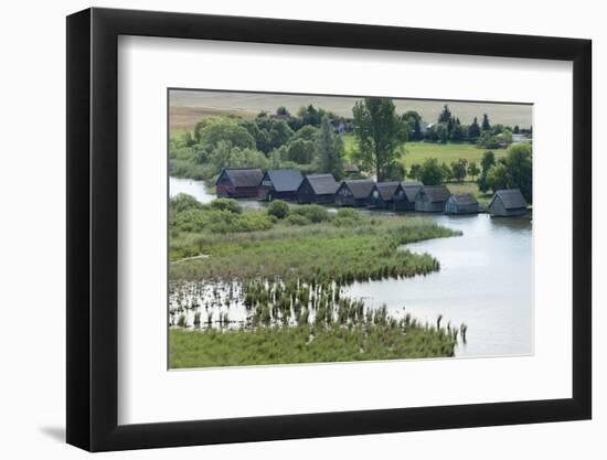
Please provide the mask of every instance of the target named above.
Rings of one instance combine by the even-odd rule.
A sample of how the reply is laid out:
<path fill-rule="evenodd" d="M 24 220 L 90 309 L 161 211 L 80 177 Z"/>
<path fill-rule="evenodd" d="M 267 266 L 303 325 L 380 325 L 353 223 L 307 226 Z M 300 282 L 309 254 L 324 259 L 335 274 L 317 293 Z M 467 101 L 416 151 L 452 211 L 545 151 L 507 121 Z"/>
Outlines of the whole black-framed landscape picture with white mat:
<path fill-rule="evenodd" d="M 67 18 L 67 442 L 588 419 L 590 41 Z"/>

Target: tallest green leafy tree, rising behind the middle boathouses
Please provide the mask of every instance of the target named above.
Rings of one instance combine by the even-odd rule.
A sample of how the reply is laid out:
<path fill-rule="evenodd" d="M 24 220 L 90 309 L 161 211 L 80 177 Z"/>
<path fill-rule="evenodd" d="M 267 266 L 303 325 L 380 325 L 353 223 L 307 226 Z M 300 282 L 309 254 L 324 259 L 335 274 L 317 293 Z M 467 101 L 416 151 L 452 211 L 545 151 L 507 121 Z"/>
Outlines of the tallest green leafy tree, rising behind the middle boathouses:
<path fill-rule="evenodd" d="M 406 141 L 405 124 L 396 116 L 392 99 L 366 97 L 358 101 L 354 114 L 356 160 L 384 180 L 387 168 L 401 158 Z"/>

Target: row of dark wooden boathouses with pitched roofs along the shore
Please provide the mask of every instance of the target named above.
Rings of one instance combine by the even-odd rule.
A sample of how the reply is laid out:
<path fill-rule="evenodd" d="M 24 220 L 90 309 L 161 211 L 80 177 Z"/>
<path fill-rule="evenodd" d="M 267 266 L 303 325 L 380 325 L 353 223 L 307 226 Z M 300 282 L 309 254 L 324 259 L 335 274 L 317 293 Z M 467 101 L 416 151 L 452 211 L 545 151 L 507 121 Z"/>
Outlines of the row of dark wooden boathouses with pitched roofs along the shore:
<path fill-rule="evenodd" d="M 336 181 L 332 174 L 303 175 L 296 169 L 225 168 L 215 182 L 217 196 L 290 200 L 301 204 L 373 207 L 392 211 L 473 214 L 480 212 L 470 194 L 451 194 L 446 185 L 420 182 L 379 182 L 371 179 Z M 528 204 L 518 189 L 499 190 L 487 212 L 497 216 L 522 215 Z"/>

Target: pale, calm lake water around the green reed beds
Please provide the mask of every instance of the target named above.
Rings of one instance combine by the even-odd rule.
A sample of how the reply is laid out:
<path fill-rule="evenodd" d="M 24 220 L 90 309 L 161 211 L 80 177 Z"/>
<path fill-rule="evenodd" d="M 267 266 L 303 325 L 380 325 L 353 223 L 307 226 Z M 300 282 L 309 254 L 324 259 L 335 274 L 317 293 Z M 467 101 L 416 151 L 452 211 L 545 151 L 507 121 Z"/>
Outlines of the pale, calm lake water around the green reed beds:
<path fill-rule="evenodd" d="M 201 202 L 214 195 L 198 181 L 170 180 L 171 196 L 190 193 Z M 263 206 L 254 200 L 251 207 Z M 407 218 L 412 214 L 400 214 Z M 458 356 L 501 356 L 533 352 L 533 261 L 530 217 L 490 217 L 488 214 L 448 216 L 423 214 L 462 236 L 407 245 L 428 253 L 440 270 L 409 279 L 356 282 L 343 292 L 362 298 L 370 307 L 386 304 L 401 317 L 403 308 L 422 321 L 468 325 L 467 343 Z M 235 307 L 235 306 L 234 306 Z M 232 309 L 234 313 L 234 309 Z M 233 317 L 234 318 L 234 313 Z M 242 314 L 242 312 L 241 312 Z M 236 315 L 241 315 L 236 314 Z M 216 315 L 215 315 L 216 318 Z"/>

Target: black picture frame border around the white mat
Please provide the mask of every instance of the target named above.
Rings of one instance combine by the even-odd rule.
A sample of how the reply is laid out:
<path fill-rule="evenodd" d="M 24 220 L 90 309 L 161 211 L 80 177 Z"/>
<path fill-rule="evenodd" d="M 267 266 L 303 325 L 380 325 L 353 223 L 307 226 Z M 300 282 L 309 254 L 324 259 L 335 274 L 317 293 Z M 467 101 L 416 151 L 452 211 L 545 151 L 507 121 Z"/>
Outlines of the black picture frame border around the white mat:
<path fill-rule="evenodd" d="M 118 425 L 119 35 L 573 62 L 572 398 Z M 66 63 L 68 443 L 105 451 L 590 418 L 590 41 L 93 8 L 67 17 Z"/>

